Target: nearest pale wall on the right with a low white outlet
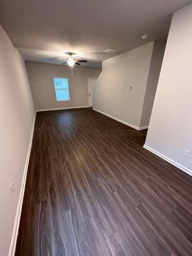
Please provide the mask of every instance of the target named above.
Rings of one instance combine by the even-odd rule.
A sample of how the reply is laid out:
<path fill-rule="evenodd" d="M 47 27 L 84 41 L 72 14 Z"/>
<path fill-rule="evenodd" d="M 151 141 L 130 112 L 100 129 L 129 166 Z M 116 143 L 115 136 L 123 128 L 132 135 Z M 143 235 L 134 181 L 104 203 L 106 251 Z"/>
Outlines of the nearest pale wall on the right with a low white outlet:
<path fill-rule="evenodd" d="M 192 4 L 173 15 L 145 142 L 192 174 L 191 74 Z"/>

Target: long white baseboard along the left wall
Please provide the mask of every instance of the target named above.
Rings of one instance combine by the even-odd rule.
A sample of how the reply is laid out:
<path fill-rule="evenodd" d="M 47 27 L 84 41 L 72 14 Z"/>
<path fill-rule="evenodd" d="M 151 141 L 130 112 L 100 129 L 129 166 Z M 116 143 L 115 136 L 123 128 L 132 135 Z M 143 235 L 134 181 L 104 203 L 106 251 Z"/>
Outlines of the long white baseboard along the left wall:
<path fill-rule="evenodd" d="M 20 224 L 20 218 L 21 218 L 21 210 L 22 210 L 24 191 L 25 191 L 25 184 L 26 184 L 26 178 L 27 178 L 27 170 L 28 170 L 28 164 L 29 164 L 32 140 L 33 140 L 35 119 L 36 119 L 36 113 L 35 113 L 35 116 L 34 116 L 34 121 L 33 121 L 33 126 L 32 126 L 32 132 L 31 132 L 29 148 L 28 148 L 28 152 L 27 152 L 27 158 L 26 158 L 26 162 L 25 162 L 23 180 L 22 180 L 22 185 L 21 185 L 21 190 L 20 190 L 20 196 L 19 196 L 16 216 L 15 216 L 14 228 L 13 228 L 13 233 L 12 233 L 12 238 L 11 238 L 11 243 L 10 243 L 10 248 L 9 248 L 8 256 L 14 256 L 15 249 L 16 249 L 17 236 L 18 236 L 18 230 L 19 230 L 19 224 Z"/>

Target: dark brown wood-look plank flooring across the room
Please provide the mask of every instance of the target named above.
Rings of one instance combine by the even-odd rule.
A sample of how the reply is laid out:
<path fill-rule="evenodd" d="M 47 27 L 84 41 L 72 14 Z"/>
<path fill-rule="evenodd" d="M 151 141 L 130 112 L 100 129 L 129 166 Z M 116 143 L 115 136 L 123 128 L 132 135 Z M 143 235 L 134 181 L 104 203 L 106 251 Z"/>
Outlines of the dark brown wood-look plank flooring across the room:
<path fill-rule="evenodd" d="M 16 256 L 191 256 L 192 177 L 91 109 L 38 112 Z"/>

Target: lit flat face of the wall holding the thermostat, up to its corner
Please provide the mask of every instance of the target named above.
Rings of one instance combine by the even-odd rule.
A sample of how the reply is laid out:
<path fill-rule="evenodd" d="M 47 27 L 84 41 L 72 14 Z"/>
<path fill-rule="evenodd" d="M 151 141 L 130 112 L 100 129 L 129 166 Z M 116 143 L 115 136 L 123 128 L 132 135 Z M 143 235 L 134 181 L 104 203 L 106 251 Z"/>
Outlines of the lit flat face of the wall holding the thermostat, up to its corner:
<path fill-rule="evenodd" d="M 139 127 L 153 46 L 150 42 L 102 62 L 94 109 Z"/>

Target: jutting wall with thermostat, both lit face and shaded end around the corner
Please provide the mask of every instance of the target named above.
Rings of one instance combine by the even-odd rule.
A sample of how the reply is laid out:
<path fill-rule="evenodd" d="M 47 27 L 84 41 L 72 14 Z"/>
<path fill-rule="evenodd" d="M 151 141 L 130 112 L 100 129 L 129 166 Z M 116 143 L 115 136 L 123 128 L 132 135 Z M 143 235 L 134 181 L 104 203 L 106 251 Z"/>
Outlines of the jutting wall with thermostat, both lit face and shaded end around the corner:
<path fill-rule="evenodd" d="M 150 42 L 105 60 L 93 108 L 134 128 L 148 126 L 163 54 L 164 44 Z"/>

